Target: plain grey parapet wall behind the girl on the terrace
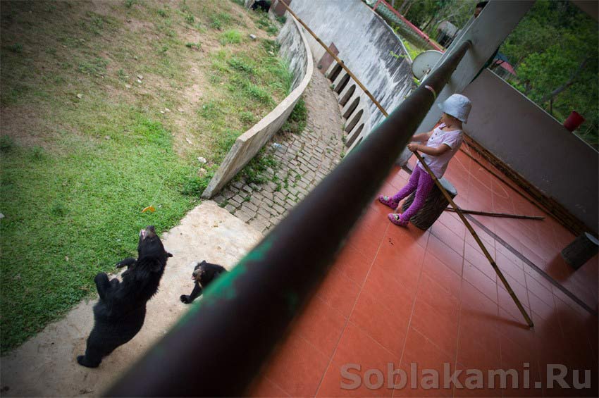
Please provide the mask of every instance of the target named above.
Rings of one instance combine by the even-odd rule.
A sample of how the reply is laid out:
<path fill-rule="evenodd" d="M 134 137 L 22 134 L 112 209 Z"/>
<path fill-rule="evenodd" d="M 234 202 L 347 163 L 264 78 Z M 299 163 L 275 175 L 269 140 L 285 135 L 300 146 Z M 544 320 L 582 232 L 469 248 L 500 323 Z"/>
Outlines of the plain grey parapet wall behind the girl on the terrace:
<path fill-rule="evenodd" d="M 597 151 L 489 70 L 463 94 L 467 133 L 597 232 Z"/>

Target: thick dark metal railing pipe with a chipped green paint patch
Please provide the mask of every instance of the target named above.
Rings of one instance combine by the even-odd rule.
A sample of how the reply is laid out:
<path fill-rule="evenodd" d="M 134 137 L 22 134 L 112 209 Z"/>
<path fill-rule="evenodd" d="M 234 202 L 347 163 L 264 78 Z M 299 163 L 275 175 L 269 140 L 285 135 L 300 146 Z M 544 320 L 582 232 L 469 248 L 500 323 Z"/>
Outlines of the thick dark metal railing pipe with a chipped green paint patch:
<path fill-rule="evenodd" d="M 257 247 L 218 278 L 109 397 L 239 396 L 323 279 L 467 51 L 464 42 Z M 401 305 L 401 304 L 397 304 Z"/>

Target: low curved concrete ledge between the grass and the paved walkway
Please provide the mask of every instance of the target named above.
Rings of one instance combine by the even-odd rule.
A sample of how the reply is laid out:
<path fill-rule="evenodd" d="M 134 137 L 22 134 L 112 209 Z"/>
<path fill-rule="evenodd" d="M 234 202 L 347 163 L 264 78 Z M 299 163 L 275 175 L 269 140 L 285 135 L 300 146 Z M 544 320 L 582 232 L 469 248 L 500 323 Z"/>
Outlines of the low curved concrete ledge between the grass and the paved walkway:
<path fill-rule="evenodd" d="M 290 68 L 293 70 L 292 92 L 254 127 L 237 137 L 214 178 L 204 190 L 202 194 L 204 199 L 209 199 L 220 192 L 256 156 L 264 144 L 285 123 L 293 107 L 304 93 L 304 89 L 308 87 L 314 71 L 312 53 L 300 24 L 291 15 L 288 15 L 277 40 L 280 43 L 281 56 L 290 61 Z"/>

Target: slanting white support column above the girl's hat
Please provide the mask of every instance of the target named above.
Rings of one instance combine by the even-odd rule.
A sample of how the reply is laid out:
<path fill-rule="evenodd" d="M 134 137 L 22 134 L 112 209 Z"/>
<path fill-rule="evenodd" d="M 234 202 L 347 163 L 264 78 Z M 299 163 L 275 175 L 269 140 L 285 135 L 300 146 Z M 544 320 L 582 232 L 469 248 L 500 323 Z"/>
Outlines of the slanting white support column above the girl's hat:
<path fill-rule="evenodd" d="M 533 4 L 534 1 L 523 0 L 491 0 L 488 2 L 478 18 L 469 25 L 464 35 L 459 38 L 459 42 L 452 43 L 450 49 L 443 54 L 435 68 L 433 68 L 435 70 L 443 63 L 447 56 L 450 56 L 459 47 L 459 44 L 466 40 L 472 42 L 471 48 L 462 58 L 462 62 L 459 63 L 443 91 L 438 94 L 435 104 L 422 121 L 417 132 L 431 131 L 441 117 L 441 110 L 437 104 L 445 101 L 451 94 L 461 93 L 470 84 L 488 58 L 498 49 L 507 35 L 510 35 Z M 472 12 L 474 13 L 474 8 Z M 493 93 L 489 93 L 489 95 L 493 95 Z M 476 104 L 472 104 L 472 112 L 476 112 Z"/>

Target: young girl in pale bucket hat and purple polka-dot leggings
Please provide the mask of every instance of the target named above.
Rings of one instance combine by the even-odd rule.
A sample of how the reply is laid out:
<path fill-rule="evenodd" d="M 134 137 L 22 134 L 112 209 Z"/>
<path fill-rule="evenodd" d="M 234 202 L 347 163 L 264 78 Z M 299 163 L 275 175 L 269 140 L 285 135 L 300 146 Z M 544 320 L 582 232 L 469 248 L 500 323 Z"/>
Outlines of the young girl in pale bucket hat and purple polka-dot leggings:
<path fill-rule="evenodd" d="M 424 154 L 422 157 L 436 178 L 443 177 L 447 163 L 462 144 L 462 123 L 468 120 L 471 104 L 470 100 L 462 94 L 453 94 L 443 104 L 439 104 L 439 108 L 443 111 L 440 125 L 430 132 L 416 134 L 412 137 L 414 141 L 426 142 L 426 144 L 412 142 L 407 146 L 410 151 L 420 151 Z M 389 213 L 388 215 L 392 223 L 405 227 L 409 219 L 422 208 L 428 192 L 431 192 L 434 184 L 433 178 L 426 173 L 424 166 L 418 161 L 407 185 L 400 192 L 393 197 L 381 195 L 378 200 L 395 210 L 402 199 L 416 191 L 416 197 L 405 213 Z"/>

